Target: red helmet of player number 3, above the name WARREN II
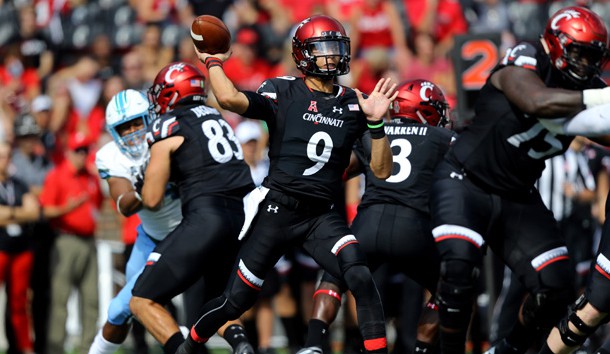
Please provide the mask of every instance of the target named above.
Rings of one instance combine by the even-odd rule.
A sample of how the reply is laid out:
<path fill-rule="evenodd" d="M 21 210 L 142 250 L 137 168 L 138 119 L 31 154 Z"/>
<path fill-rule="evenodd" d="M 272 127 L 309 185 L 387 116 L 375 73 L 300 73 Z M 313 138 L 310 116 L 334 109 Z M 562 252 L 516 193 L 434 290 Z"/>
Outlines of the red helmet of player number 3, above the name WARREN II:
<path fill-rule="evenodd" d="M 407 81 L 396 89 L 398 96 L 390 106 L 392 118 L 408 118 L 419 123 L 444 127 L 449 121 L 449 104 L 443 91 L 430 81 Z"/>

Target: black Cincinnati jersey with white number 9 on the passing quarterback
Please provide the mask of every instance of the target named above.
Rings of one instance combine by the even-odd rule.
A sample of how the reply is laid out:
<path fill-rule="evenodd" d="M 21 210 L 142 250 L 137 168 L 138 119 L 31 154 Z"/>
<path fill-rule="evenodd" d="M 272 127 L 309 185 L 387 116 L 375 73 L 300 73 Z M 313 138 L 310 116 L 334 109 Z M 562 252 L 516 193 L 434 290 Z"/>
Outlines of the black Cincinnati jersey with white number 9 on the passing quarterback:
<path fill-rule="evenodd" d="M 263 185 L 290 195 L 333 201 L 341 191 L 352 146 L 367 130 L 356 93 L 340 85 L 332 94 L 310 90 L 302 78 L 266 80 L 244 92 L 245 116 L 269 127 L 269 175 Z"/>

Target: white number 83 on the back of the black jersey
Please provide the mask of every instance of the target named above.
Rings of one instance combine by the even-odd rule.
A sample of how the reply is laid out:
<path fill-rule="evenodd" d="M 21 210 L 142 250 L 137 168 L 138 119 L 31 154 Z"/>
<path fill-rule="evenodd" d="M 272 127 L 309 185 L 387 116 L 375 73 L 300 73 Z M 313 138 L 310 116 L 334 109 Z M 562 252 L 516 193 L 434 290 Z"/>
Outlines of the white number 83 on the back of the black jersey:
<path fill-rule="evenodd" d="M 244 152 L 229 123 L 224 120 L 210 119 L 201 123 L 201 129 L 209 139 L 208 150 L 216 162 L 229 162 L 233 156 L 238 160 L 243 160 Z M 231 147 L 229 140 L 235 145 L 235 150 Z"/>

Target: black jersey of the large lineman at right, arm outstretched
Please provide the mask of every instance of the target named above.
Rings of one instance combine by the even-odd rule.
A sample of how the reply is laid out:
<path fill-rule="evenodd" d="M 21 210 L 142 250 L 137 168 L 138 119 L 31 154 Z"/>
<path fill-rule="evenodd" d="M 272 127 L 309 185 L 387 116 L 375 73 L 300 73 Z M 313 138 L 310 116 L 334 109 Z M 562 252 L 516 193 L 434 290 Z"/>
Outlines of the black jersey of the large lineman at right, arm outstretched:
<path fill-rule="evenodd" d="M 534 71 L 547 87 L 576 89 L 551 66 L 539 44 L 520 43 L 508 50 L 494 71 L 509 65 Z M 590 84 L 604 86 L 599 78 Z M 519 111 L 488 79 L 479 93 L 472 123 L 460 133 L 448 157 L 457 160 L 483 188 L 514 195 L 529 191 L 545 167 L 544 160 L 563 154 L 572 139 L 548 131 L 537 117 Z"/>

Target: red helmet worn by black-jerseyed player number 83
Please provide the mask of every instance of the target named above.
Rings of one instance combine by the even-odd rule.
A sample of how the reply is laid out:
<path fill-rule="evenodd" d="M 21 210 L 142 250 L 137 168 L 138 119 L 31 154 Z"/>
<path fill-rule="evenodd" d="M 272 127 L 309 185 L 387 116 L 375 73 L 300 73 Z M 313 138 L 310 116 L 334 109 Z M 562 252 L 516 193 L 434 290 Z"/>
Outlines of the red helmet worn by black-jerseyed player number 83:
<path fill-rule="evenodd" d="M 166 65 L 148 89 L 148 99 L 156 114 L 174 109 L 185 98 L 205 103 L 205 76 L 194 65 L 177 62 Z"/>

